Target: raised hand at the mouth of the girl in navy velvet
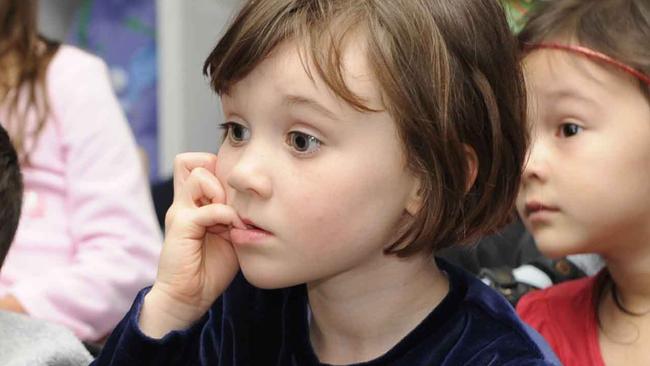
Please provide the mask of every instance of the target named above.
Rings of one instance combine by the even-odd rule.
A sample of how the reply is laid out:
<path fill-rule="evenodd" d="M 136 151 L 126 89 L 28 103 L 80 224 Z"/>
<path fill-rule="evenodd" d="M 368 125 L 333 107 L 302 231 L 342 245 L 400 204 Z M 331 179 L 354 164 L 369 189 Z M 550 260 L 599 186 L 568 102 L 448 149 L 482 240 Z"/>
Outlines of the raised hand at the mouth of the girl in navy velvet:
<path fill-rule="evenodd" d="M 205 314 L 239 270 L 229 227 L 245 228 L 225 205 L 214 175 L 217 157 L 186 153 L 174 161 L 174 202 L 165 217 L 158 275 L 140 314 L 141 330 L 159 338 Z"/>

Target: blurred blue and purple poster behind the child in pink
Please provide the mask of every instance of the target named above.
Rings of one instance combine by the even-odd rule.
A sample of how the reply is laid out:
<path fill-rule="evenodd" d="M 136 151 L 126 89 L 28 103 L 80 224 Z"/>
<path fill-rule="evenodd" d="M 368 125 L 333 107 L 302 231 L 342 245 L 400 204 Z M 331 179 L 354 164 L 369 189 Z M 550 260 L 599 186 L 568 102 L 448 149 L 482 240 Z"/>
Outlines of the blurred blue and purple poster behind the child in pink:
<path fill-rule="evenodd" d="M 155 25 L 155 0 L 83 0 L 67 39 L 108 64 L 152 179 L 158 171 Z"/>

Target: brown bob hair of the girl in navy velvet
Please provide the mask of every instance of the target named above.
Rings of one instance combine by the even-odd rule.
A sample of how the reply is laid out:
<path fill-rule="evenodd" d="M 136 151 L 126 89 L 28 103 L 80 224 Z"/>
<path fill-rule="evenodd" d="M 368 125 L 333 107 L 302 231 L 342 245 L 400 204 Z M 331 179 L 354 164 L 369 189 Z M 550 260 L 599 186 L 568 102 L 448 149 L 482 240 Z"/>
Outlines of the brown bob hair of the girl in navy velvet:
<path fill-rule="evenodd" d="M 408 167 L 422 183 L 422 208 L 386 252 L 435 252 L 507 223 L 528 139 L 517 43 L 497 0 L 250 0 L 203 71 L 218 94 L 228 93 L 275 47 L 294 41 L 341 99 L 373 113 L 343 81 L 351 33 L 366 42 Z M 478 157 L 471 188 L 467 147 Z"/>

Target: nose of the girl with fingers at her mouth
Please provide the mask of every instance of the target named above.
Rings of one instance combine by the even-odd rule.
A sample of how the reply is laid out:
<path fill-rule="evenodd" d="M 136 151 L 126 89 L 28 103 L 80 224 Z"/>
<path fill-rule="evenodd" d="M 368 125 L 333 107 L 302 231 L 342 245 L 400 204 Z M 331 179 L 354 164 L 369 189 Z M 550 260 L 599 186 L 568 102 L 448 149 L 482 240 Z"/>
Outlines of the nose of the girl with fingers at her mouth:
<path fill-rule="evenodd" d="M 253 146 L 248 146 L 233 165 L 227 183 L 238 192 L 269 198 L 273 187 L 268 169 L 264 155 L 257 152 Z"/>

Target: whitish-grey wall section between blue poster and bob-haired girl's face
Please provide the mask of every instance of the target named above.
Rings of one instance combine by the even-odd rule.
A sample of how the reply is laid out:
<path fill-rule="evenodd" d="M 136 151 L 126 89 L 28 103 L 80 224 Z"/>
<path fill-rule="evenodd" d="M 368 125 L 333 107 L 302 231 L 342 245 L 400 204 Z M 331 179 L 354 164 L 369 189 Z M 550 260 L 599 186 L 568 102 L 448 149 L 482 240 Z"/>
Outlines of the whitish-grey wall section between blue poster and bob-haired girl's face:
<path fill-rule="evenodd" d="M 180 152 L 217 150 L 220 105 L 202 66 L 237 5 L 237 0 L 157 0 L 161 176 L 171 175 Z"/>

